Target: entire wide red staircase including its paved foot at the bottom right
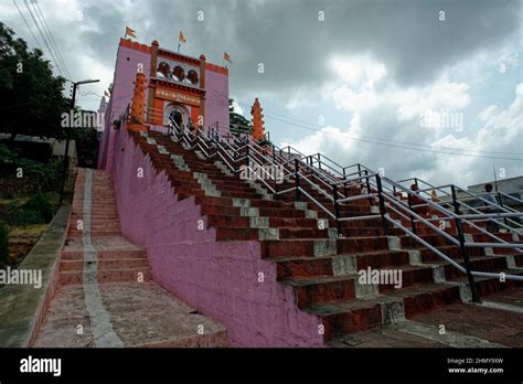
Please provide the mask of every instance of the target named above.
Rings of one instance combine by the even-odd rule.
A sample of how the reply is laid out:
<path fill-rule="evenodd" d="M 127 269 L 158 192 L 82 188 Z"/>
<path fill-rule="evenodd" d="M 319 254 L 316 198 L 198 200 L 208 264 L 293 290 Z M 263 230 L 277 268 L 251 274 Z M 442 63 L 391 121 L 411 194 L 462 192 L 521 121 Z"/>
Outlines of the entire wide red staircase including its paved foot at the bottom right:
<path fill-rule="evenodd" d="M 174 137 L 154 130 L 129 135 L 150 157 L 156 171 L 168 175 L 175 199 L 194 196 L 202 215 L 216 230 L 217 242 L 260 243 L 259 256 L 276 264 L 277 280 L 292 288 L 296 305 L 321 319 L 325 344 L 523 345 L 521 282 L 476 278 L 484 302 L 493 303 L 467 303 L 471 295 L 467 275 L 399 228 L 391 227 L 385 236 L 380 220 L 364 218 L 376 214 L 376 199 L 357 199 L 335 206 L 325 191 L 303 182 L 301 190 L 307 196 L 292 192 L 275 198 L 263 183 L 241 179 L 223 161 L 211 160 L 202 150 L 190 148 Z M 296 181 L 287 177 L 278 189 L 290 190 L 295 185 Z M 348 198 L 362 194 L 364 186 L 353 183 L 344 193 Z M 338 210 L 343 217 L 363 218 L 335 221 L 325 207 Z M 394 212 L 391 217 L 408 225 Z M 447 223 L 445 231 L 456 236 L 452 223 Z M 465 226 L 463 231 L 473 241 L 484 236 L 473 227 Z M 456 244 L 434 234 L 423 223 L 416 224 L 416 234 L 463 265 Z M 471 248 L 469 256 L 474 270 L 523 274 L 523 258 L 512 248 L 494 248 L 488 254 L 483 248 Z M 367 279 L 361 278 L 361 271 L 369 273 Z M 401 282 L 392 278 L 395 271 L 401 271 Z M 373 280 L 372 273 L 380 274 L 382 279 Z M 482 328 L 481 319 L 488 317 L 506 326 L 506 334 L 493 337 Z M 441 334 L 438 319 L 459 332 Z M 460 328 L 463 322 L 478 321 L 480 326 Z"/>

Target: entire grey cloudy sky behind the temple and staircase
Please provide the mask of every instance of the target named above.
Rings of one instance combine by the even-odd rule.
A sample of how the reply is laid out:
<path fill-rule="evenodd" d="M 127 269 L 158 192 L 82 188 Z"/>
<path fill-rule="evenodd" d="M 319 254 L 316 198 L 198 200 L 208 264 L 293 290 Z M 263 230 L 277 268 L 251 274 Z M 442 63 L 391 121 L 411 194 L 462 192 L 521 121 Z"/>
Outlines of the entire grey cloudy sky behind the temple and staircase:
<path fill-rule="evenodd" d="M 26 2 L 15 4 L 39 39 Z M 259 97 L 277 145 L 393 179 L 466 186 L 492 180 L 493 169 L 523 174 L 522 0 L 38 4 L 72 78 L 102 79 L 83 88 L 85 108 L 96 109 L 113 79 L 126 25 L 173 50 L 182 30 L 182 53 L 217 64 L 230 53 L 231 96 L 245 115 Z M 20 12 L 0 0 L 1 21 L 38 46 Z"/>

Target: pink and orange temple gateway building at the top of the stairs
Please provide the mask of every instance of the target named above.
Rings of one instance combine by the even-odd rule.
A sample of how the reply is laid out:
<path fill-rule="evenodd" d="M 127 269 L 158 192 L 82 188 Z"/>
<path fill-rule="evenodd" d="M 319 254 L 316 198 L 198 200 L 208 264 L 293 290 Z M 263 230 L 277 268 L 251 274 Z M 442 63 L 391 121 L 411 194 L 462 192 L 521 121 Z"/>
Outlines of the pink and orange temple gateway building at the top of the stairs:
<path fill-rule="evenodd" d="M 115 121 L 126 113 L 134 97 L 137 73 L 145 75 L 145 124 L 167 126 L 169 117 L 179 125 L 217 127 L 226 134 L 228 116 L 228 68 L 212 64 L 205 55 L 188 56 L 164 47 L 120 39 L 110 98 L 106 107 L 105 131 L 113 145 Z M 99 164 L 110 162 L 100 152 Z"/>

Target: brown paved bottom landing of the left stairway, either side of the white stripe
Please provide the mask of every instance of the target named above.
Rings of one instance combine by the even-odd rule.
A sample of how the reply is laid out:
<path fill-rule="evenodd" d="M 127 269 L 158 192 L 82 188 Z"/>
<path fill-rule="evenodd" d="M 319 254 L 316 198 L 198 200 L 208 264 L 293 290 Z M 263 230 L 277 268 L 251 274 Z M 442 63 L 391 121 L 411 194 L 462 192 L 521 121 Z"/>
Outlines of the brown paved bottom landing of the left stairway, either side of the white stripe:
<path fill-rule="evenodd" d="M 223 326 L 199 314 L 153 281 L 107 282 L 100 285 L 100 294 L 122 346 L 228 344 Z M 83 286 L 62 286 L 51 302 L 34 346 L 90 348 L 96 344 Z"/>

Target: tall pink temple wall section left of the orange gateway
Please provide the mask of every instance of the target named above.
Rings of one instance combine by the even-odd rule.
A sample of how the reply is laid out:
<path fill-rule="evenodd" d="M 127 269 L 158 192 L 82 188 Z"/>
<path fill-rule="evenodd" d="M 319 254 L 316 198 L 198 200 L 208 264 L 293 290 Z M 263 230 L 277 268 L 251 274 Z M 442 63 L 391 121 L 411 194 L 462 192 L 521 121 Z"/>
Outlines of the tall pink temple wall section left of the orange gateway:
<path fill-rule="evenodd" d="M 116 56 L 115 76 L 113 79 L 113 94 L 106 111 L 105 130 L 102 135 L 98 154 L 98 169 L 110 170 L 113 167 L 113 149 L 115 146 L 115 129 L 113 121 L 126 110 L 132 98 L 138 64 L 142 64 L 146 78 L 149 79 L 151 56 L 148 53 L 118 46 Z"/>

